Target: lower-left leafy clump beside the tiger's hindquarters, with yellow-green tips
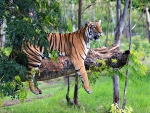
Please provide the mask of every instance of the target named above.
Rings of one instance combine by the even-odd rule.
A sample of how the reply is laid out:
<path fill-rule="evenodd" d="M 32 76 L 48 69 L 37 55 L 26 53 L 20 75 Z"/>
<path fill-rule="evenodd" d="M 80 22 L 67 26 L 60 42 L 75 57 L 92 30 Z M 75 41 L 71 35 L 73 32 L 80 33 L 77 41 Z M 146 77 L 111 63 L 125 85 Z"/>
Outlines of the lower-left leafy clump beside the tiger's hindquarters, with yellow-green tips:
<path fill-rule="evenodd" d="M 11 50 L 10 47 L 0 49 L 0 97 L 11 96 L 23 101 L 27 96 L 27 91 L 20 77 L 25 79 L 27 72 L 25 67 L 9 59 Z M 3 102 L 2 99 L 0 99 L 0 104 Z"/>

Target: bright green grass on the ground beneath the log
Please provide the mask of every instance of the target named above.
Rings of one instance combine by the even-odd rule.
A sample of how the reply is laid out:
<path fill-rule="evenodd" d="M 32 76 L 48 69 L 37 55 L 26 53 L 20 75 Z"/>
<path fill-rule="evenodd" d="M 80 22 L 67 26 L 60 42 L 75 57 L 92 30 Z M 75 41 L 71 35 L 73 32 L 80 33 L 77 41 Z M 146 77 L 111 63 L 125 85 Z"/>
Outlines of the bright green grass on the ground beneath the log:
<path fill-rule="evenodd" d="M 129 80 L 127 88 L 127 107 L 131 106 L 134 113 L 150 113 L 150 72 L 141 80 L 136 82 Z M 129 76 L 130 77 L 130 76 Z M 66 84 L 64 80 L 54 81 L 53 84 L 40 84 L 44 96 L 51 94 L 50 97 L 35 99 L 33 101 L 17 104 L 10 107 L 3 107 L 0 113 L 106 113 L 113 102 L 113 86 L 111 77 L 100 77 L 95 85 L 91 85 L 93 93 L 87 94 L 80 86 L 79 102 L 80 109 L 75 106 L 68 106 L 65 100 Z M 73 86 L 71 85 L 70 97 L 73 97 Z M 122 100 L 124 81 L 120 80 L 120 97 Z M 37 97 L 29 93 L 28 98 Z M 120 102 L 122 103 L 122 101 Z"/>

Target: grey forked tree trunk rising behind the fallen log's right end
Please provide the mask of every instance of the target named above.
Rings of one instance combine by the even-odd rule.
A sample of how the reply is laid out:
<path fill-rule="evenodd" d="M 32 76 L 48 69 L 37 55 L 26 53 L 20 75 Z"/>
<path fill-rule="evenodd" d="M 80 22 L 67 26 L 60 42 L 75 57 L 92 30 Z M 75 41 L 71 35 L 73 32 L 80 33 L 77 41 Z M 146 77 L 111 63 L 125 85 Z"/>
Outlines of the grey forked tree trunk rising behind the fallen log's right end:
<path fill-rule="evenodd" d="M 116 28 L 114 31 L 114 44 L 117 44 L 120 46 L 120 38 L 122 35 L 122 31 L 124 28 L 124 23 L 125 23 L 125 17 L 127 15 L 127 9 L 128 9 L 128 4 L 129 0 L 125 0 L 125 5 L 124 5 L 124 11 L 122 12 L 121 9 L 121 0 L 116 1 Z M 116 76 L 116 75 L 115 75 Z M 114 103 L 117 103 L 118 106 L 120 106 L 120 95 L 119 95 L 119 78 L 113 76 L 113 81 L 114 81 Z"/>

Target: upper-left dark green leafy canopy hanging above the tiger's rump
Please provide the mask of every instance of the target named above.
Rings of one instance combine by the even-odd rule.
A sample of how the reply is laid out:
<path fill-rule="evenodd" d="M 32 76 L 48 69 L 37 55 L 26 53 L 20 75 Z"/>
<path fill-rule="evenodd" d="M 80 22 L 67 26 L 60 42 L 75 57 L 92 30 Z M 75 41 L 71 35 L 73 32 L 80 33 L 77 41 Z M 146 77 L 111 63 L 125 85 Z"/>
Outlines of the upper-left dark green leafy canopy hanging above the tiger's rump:
<path fill-rule="evenodd" d="M 32 2 L 32 4 L 31 4 Z M 59 3 L 41 0 L 16 0 L 13 3 L 2 0 L 1 20 L 6 19 L 7 44 L 19 49 L 24 40 L 47 48 L 47 33 L 50 29 L 58 29 Z M 34 38 L 33 38 L 34 37 Z"/>

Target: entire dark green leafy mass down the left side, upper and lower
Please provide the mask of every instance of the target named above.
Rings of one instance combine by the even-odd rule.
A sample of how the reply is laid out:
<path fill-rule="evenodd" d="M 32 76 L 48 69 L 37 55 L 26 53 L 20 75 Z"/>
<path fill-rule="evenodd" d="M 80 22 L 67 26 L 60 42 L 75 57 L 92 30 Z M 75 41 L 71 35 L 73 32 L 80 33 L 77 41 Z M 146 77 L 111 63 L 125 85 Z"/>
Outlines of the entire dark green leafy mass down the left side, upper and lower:
<path fill-rule="evenodd" d="M 24 101 L 27 92 L 21 79 L 25 80 L 28 72 L 21 46 L 26 40 L 48 51 L 47 33 L 59 28 L 59 3 L 55 0 L 0 0 L 0 14 L 0 23 L 7 22 L 6 47 L 0 49 L 0 94 Z"/>

